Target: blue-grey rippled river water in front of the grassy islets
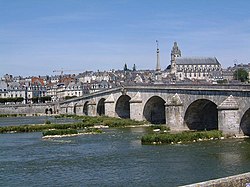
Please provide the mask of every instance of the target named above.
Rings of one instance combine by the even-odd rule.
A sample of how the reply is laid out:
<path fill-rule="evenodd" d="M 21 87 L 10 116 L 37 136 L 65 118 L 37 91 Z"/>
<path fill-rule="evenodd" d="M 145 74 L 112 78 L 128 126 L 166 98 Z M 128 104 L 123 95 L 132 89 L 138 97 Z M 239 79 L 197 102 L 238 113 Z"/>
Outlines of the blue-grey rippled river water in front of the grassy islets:
<path fill-rule="evenodd" d="M 250 170 L 248 139 L 141 145 L 145 130 L 0 134 L 0 186 L 178 186 Z"/>

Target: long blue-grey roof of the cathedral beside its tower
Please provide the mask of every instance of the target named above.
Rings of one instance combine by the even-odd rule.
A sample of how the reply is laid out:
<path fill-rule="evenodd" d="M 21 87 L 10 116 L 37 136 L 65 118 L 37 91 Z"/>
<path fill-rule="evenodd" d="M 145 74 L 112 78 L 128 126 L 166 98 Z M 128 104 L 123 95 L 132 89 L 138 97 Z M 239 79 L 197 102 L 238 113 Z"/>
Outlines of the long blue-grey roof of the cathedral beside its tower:
<path fill-rule="evenodd" d="M 215 57 L 177 57 L 177 65 L 220 65 Z"/>

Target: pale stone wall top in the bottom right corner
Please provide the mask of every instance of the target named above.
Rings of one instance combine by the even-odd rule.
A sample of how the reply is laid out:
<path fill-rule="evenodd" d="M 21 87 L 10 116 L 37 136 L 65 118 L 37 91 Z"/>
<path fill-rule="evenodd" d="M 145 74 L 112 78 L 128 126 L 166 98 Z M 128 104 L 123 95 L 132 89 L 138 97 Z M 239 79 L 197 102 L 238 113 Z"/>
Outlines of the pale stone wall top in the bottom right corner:
<path fill-rule="evenodd" d="M 182 187 L 250 187 L 250 172 Z"/>

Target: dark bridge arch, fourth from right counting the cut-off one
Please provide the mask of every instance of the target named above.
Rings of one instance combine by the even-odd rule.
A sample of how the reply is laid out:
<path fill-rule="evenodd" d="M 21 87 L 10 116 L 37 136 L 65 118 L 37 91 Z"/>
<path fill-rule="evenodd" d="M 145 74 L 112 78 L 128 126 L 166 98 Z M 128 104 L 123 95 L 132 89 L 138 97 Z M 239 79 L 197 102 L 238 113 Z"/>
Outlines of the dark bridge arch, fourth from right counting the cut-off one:
<path fill-rule="evenodd" d="M 128 95 L 121 95 L 116 102 L 115 112 L 120 118 L 130 118 L 130 101 Z"/>

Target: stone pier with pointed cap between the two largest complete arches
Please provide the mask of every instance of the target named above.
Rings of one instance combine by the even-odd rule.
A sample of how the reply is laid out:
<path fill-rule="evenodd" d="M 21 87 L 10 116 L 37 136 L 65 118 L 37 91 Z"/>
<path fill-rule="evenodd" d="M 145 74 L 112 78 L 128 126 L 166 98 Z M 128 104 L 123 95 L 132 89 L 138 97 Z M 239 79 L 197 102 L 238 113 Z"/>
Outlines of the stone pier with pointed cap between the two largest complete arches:
<path fill-rule="evenodd" d="M 178 94 L 175 94 L 166 104 L 166 124 L 171 131 L 188 130 L 184 124 L 183 103 Z"/>

